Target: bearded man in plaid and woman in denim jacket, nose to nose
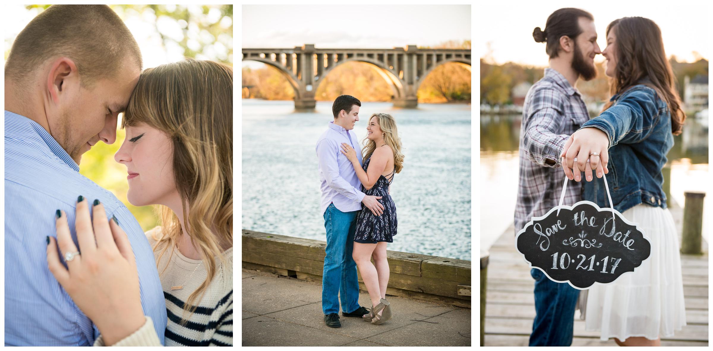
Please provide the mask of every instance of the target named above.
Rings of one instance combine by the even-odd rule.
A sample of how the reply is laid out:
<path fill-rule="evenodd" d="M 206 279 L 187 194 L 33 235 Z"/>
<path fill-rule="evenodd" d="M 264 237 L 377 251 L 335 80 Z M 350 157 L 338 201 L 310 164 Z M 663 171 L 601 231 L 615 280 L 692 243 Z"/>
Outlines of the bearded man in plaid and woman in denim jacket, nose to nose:
<path fill-rule="evenodd" d="M 581 294 L 533 268 L 530 346 L 571 345 L 575 307 L 586 318 L 586 330 L 600 331 L 601 340 L 613 337 L 620 346 L 660 346 L 661 335 L 670 337 L 686 325 L 679 244 L 661 171 L 686 116 L 659 27 L 650 19 L 625 17 L 612 21 L 606 35 L 600 51 L 594 18 L 581 9 L 559 9 L 544 31 L 533 32 L 535 41 L 547 43 L 550 66 L 523 106 L 515 233 L 558 205 L 567 177 L 576 183 L 563 205 L 590 200 L 615 208 L 651 239 L 651 255 L 634 273 Z M 606 58 L 612 97 L 590 119 L 575 85 L 596 76 L 597 54 Z M 580 183 L 582 178 L 587 181 Z M 605 180 L 612 203 L 605 202 Z"/>

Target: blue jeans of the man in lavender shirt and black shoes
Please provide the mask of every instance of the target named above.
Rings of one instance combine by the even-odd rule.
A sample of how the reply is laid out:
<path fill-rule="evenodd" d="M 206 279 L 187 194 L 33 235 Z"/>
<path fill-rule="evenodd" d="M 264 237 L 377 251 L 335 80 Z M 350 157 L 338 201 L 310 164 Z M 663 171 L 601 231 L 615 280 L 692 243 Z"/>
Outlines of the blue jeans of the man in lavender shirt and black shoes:
<path fill-rule="evenodd" d="M 322 273 L 322 311 L 325 315 L 342 311 L 354 312 L 359 308 L 359 280 L 356 278 L 356 262 L 352 258 L 356 213 L 342 212 L 330 203 L 324 211 L 324 229 L 327 230 L 327 255 Z"/>

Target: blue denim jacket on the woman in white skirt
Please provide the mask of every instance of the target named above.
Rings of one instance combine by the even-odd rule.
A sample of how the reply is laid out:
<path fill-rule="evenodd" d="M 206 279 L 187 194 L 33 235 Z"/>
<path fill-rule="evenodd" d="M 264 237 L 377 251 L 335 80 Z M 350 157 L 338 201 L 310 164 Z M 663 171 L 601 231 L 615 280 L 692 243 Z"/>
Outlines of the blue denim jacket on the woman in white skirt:
<path fill-rule="evenodd" d="M 671 112 L 657 92 L 642 84 L 612 96 L 614 105 L 582 125 L 598 128 L 609 138 L 606 175 L 615 210 L 640 203 L 666 208 L 661 169 L 673 147 Z M 583 199 L 610 208 L 604 178 L 584 181 Z"/>

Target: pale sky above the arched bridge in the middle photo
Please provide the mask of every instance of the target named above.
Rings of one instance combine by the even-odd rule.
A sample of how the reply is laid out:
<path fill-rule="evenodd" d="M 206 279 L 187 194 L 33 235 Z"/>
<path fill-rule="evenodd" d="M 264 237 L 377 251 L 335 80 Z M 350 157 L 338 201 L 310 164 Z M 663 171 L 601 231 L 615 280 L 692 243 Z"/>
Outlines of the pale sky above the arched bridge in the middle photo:
<path fill-rule="evenodd" d="M 242 6 L 244 48 L 391 49 L 470 39 L 470 5 Z"/>

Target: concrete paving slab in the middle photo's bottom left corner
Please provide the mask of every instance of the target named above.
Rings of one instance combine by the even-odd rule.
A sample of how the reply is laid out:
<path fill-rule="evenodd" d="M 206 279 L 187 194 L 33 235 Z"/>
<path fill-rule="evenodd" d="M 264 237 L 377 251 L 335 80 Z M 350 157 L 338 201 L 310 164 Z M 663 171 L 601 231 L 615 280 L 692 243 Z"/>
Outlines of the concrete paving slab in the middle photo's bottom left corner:
<path fill-rule="evenodd" d="M 354 341 L 359 340 L 265 316 L 242 321 L 242 346 L 341 346 Z"/>

